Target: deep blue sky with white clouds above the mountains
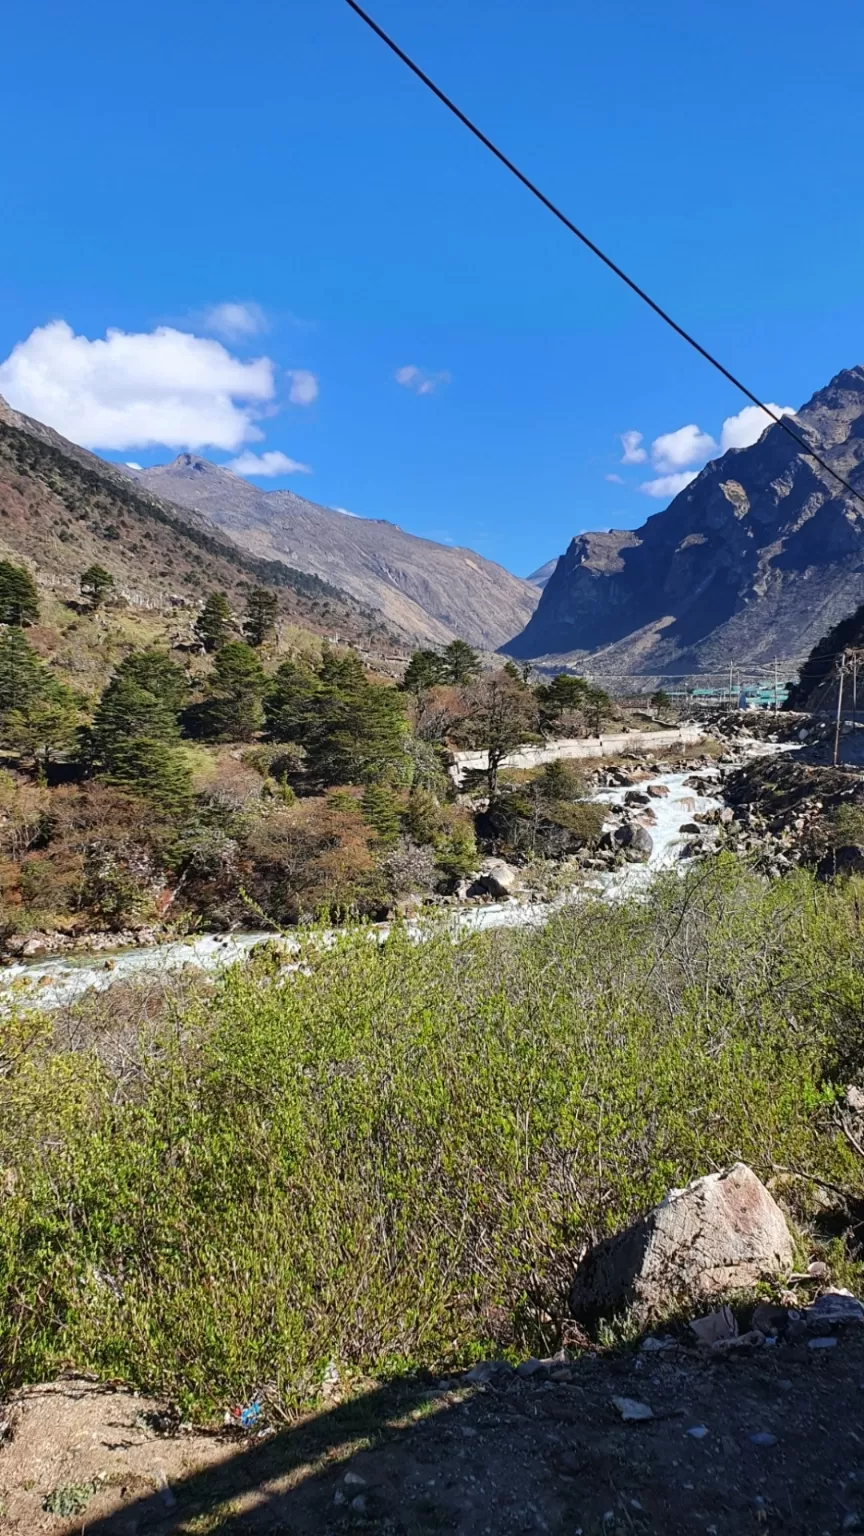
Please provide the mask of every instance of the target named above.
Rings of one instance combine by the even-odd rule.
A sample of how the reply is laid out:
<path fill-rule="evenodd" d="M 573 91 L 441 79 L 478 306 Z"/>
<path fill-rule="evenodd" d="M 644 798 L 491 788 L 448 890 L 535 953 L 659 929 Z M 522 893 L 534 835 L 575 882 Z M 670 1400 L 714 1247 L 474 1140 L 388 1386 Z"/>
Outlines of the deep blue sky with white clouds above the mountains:
<path fill-rule="evenodd" d="M 369 3 L 764 398 L 864 361 L 859 5 Z M 0 124 L 0 390 L 109 458 L 283 453 L 524 574 L 744 404 L 343 0 L 29 0 Z"/>

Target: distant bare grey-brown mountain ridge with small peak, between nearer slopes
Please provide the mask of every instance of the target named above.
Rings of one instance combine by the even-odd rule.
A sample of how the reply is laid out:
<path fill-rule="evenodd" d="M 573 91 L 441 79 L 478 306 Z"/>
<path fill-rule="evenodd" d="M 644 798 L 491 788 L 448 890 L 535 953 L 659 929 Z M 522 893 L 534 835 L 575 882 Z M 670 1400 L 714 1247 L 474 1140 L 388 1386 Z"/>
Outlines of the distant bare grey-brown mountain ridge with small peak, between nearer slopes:
<path fill-rule="evenodd" d="M 529 621 L 537 588 L 472 550 L 352 518 L 289 490 L 258 490 L 194 453 L 126 468 L 141 487 L 192 507 L 260 558 L 287 561 L 334 582 L 412 641 L 469 641 L 495 650 Z"/>

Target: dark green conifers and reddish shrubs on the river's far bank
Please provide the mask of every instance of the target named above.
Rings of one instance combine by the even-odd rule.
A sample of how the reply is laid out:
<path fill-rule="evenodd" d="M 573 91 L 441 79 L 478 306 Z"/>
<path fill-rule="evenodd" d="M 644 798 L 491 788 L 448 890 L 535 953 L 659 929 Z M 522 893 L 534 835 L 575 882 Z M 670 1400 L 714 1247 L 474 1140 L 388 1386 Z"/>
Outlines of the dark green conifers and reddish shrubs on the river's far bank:
<path fill-rule="evenodd" d="M 94 931 L 384 917 L 457 889 L 486 846 L 520 860 L 598 840 L 564 765 L 500 783 L 506 754 L 609 700 L 581 679 L 481 673 L 463 641 L 418 651 L 401 687 L 278 625 L 278 596 L 208 594 L 184 639 L 115 605 L 108 568 L 49 604 L 0 561 L 0 940 L 40 954 Z M 48 621 L 54 622 L 48 622 Z M 135 644 L 137 642 L 137 644 Z M 458 803 L 450 742 L 486 750 L 483 814 Z"/>

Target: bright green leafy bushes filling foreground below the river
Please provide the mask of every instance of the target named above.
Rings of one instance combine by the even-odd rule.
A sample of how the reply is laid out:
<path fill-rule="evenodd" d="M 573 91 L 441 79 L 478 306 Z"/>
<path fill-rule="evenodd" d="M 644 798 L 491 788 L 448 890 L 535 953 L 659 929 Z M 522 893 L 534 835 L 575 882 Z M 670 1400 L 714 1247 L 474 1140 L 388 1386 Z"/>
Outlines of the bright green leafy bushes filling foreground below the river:
<path fill-rule="evenodd" d="M 581 1246 L 670 1184 L 744 1158 L 861 1190 L 830 1118 L 859 900 L 719 859 L 540 932 L 312 934 L 151 1031 L 126 1091 L 5 1017 L 0 1390 L 65 1366 L 291 1407 L 331 1358 L 547 1352 Z"/>

